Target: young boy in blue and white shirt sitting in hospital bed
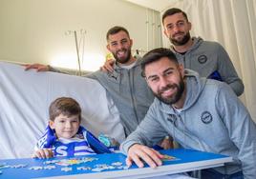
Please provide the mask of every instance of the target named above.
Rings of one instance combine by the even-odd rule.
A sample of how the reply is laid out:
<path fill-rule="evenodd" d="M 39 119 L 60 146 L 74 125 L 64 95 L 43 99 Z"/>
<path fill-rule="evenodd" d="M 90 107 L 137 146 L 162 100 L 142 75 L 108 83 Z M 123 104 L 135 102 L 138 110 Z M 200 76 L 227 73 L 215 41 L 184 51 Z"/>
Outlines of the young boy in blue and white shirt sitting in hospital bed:
<path fill-rule="evenodd" d="M 32 157 L 50 158 L 111 152 L 91 132 L 80 126 L 81 108 L 73 98 L 55 99 L 50 105 L 49 114 L 49 125 L 37 142 Z"/>

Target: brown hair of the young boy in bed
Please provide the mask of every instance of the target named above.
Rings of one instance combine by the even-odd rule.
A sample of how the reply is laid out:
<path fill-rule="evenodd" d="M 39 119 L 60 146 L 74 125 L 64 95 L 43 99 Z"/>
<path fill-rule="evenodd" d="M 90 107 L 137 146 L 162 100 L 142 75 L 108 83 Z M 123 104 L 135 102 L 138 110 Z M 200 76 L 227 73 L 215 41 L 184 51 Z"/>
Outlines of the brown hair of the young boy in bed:
<path fill-rule="evenodd" d="M 50 120 L 54 121 L 60 114 L 66 116 L 78 115 L 79 120 L 81 120 L 81 108 L 75 99 L 70 97 L 59 97 L 51 103 L 49 108 Z"/>

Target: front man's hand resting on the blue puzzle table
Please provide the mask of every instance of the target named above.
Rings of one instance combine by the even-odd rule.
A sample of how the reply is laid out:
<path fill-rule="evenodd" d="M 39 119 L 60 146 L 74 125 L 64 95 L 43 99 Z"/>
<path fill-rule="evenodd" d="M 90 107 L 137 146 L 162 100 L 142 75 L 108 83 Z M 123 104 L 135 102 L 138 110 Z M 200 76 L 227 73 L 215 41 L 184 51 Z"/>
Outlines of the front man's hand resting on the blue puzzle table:
<path fill-rule="evenodd" d="M 126 165 L 130 167 L 132 163 L 135 162 L 139 168 L 143 168 L 144 161 L 151 168 L 156 168 L 158 166 L 161 166 L 162 158 L 163 155 L 160 154 L 159 151 L 156 151 L 155 149 L 150 149 L 146 146 L 135 144 L 128 150 Z"/>

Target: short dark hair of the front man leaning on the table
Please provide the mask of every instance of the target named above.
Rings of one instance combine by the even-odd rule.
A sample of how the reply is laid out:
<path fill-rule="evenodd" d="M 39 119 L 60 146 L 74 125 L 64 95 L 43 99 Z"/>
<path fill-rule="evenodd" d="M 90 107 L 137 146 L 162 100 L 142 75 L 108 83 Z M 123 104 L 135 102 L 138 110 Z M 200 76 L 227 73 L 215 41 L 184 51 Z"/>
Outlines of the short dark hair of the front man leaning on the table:
<path fill-rule="evenodd" d="M 165 49 L 165 48 L 158 48 L 155 50 L 150 50 L 142 57 L 142 60 L 141 60 L 140 67 L 142 70 L 142 72 L 141 72 L 142 77 L 145 77 L 146 65 L 156 62 L 156 61 L 160 60 L 160 58 L 162 58 L 162 57 L 167 57 L 170 61 L 173 61 L 177 65 L 179 65 L 177 57 L 175 56 L 175 54 L 172 50 Z"/>

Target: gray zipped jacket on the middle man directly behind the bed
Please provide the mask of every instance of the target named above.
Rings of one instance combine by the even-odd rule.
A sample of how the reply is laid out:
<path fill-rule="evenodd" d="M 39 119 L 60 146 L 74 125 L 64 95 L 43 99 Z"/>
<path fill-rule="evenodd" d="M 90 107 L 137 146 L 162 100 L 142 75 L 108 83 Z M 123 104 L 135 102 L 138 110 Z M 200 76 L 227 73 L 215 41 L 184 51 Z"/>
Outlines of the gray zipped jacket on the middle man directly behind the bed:
<path fill-rule="evenodd" d="M 86 77 L 96 79 L 110 94 L 120 112 L 120 122 L 128 136 L 137 129 L 147 110 L 154 101 L 154 95 L 141 76 L 140 60 L 130 69 L 114 65 L 113 73 L 96 71 Z"/>

